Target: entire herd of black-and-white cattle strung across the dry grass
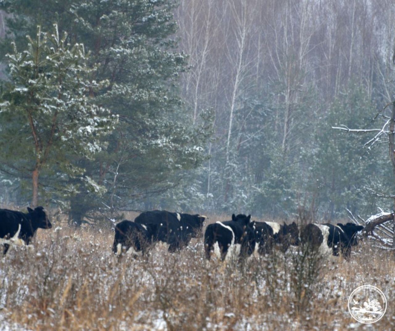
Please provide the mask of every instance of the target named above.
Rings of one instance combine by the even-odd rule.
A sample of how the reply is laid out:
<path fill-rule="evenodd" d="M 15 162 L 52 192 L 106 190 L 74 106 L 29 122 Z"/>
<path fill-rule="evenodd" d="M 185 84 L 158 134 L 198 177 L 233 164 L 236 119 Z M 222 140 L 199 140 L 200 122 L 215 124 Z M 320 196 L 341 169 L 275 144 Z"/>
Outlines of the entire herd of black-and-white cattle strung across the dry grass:
<path fill-rule="evenodd" d="M 206 216 L 199 214 L 170 213 L 168 211 L 146 211 L 134 220 L 124 220 L 115 226 L 113 252 L 121 256 L 126 252 L 143 256 L 155 243 L 168 245 L 169 252 L 188 246 L 192 238 L 203 236 Z M 11 244 L 28 245 L 38 228 L 50 229 L 51 222 L 43 207 L 28 213 L 0 209 L 0 244 L 4 254 Z M 204 233 L 205 257 L 220 260 L 231 257 L 245 258 L 252 254 L 271 254 L 277 246 L 282 252 L 288 248 L 309 244 L 324 255 L 350 257 L 351 247 L 357 244 L 356 234 L 363 226 L 354 223 L 337 225 L 279 224 L 256 222 L 251 215 L 235 214 L 225 222 L 215 222 L 206 227 Z"/>

